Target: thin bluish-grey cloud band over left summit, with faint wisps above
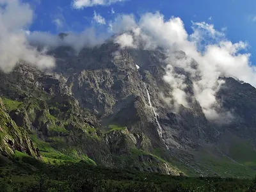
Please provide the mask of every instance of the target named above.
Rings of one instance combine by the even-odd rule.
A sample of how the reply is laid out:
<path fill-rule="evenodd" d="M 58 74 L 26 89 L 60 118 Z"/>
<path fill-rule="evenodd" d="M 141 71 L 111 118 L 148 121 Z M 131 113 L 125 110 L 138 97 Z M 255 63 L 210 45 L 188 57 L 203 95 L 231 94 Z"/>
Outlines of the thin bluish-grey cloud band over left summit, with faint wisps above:
<path fill-rule="evenodd" d="M 70 27 L 67 25 L 63 12 L 64 10 L 58 7 L 56 15 L 53 17 L 57 31 L 65 30 L 66 35 L 63 36 L 63 38 L 49 32 L 29 31 L 29 33 L 26 33 L 26 38 L 28 39 L 29 44 L 35 47 L 46 47 L 47 49 L 55 49 L 59 46 L 68 46 L 72 47 L 78 54 L 84 47 L 95 47 L 104 43 L 105 40 L 109 38 L 110 35 L 108 33 L 97 30 L 98 26 L 84 28 L 81 32 L 71 31 Z M 95 22 L 100 25 L 106 24 L 106 20 L 96 12 L 94 12 L 94 19 Z"/>

